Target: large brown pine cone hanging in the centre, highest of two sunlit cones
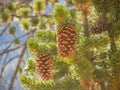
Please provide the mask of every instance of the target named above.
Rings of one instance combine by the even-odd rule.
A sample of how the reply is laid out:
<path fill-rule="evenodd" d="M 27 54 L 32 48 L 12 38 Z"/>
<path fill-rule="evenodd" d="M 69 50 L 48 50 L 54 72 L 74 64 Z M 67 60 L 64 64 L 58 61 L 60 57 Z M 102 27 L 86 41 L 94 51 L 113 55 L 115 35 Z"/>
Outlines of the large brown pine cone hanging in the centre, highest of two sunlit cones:
<path fill-rule="evenodd" d="M 65 25 L 57 31 L 58 53 L 63 58 L 74 57 L 77 31 L 73 25 Z"/>

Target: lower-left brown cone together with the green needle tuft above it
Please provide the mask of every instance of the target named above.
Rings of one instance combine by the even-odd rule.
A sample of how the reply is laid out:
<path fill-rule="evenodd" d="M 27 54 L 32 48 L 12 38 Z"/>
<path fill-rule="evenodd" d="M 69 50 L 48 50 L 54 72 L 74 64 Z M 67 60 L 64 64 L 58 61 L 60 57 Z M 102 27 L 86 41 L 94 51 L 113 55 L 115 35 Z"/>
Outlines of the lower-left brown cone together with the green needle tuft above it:
<path fill-rule="evenodd" d="M 28 46 L 34 55 L 35 69 L 40 79 L 43 81 L 50 80 L 53 76 L 53 57 L 50 52 L 53 50 L 52 48 L 55 47 L 54 44 L 38 44 L 34 39 L 30 39 Z"/>

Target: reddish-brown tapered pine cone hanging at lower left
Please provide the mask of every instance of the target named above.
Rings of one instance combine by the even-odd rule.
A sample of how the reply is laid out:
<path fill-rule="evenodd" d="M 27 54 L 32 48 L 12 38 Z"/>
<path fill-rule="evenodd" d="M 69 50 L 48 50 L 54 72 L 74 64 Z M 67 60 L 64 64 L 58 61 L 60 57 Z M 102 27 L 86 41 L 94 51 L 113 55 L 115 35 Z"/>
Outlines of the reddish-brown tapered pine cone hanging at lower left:
<path fill-rule="evenodd" d="M 36 57 L 36 70 L 42 80 L 52 78 L 53 58 L 49 54 L 40 54 Z"/>

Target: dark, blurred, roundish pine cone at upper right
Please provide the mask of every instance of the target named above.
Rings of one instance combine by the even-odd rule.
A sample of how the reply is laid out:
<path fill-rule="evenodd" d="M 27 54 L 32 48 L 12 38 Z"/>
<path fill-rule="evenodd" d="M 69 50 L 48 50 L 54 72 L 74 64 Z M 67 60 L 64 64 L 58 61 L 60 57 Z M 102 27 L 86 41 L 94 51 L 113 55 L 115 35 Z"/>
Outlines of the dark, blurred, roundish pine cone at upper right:
<path fill-rule="evenodd" d="M 91 27 L 91 31 L 94 34 L 100 34 L 100 33 L 105 32 L 107 30 L 108 30 L 108 22 L 103 18 L 98 19 L 94 23 L 94 25 Z"/>

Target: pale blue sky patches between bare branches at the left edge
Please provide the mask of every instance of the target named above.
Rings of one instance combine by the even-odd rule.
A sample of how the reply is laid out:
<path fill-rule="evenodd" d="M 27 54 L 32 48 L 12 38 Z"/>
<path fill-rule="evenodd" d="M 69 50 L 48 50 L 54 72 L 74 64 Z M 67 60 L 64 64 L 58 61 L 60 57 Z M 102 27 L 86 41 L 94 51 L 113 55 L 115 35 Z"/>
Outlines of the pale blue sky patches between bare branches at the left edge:
<path fill-rule="evenodd" d="M 0 31 L 1 31 L 2 29 L 4 29 L 5 26 L 6 26 L 6 25 L 3 24 L 3 27 L 0 28 Z M 12 26 L 13 26 L 13 25 L 12 25 Z M 19 36 L 21 36 L 22 34 L 26 33 L 25 31 L 21 30 L 20 25 L 19 25 L 18 23 L 14 23 L 14 26 L 16 27 L 16 31 L 17 31 L 17 33 L 15 34 L 16 37 L 19 37 Z M 27 38 L 27 37 L 22 38 L 22 39 L 20 40 L 21 43 L 24 43 L 24 42 L 26 41 L 26 38 Z M 14 40 L 14 36 L 8 35 L 7 31 L 6 31 L 2 36 L 0 36 L 0 43 L 1 43 L 1 44 L 2 44 L 3 42 L 13 41 L 13 40 Z M 3 50 L 4 48 L 6 48 L 8 45 L 10 45 L 10 43 L 0 45 L 0 51 Z M 10 47 L 9 49 L 12 49 L 12 48 L 14 48 L 14 47 L 17 47 L 17 46 L 11 44 L 11 47 Z M 16 56 L 16 55 L 19 55 L 20 52 L 21 52 L 21 49 L 16 50 L 16 51 L 10 53 L 10 54 L 8 55 L 8 58 L 7 58 L 6 62 L 8 62 L 10 58 L 12 58 L 12 57 L 14 57 L 14 56 Z M 4 63 L 4 61 L 5 61 L 5 57 L 6 57 L 6 55 L 3 55 L 2 57 L 0 57 L 0 68 L 2 68 L 2 66 L 3 66 L 3 63 Z M 13 71 L 15 70 L 16 65 L 17 65 L 17 62 L 18 62 L 18 58 L 12 60 L 12 61 L 7 65 L 7 67 L 6 67 L 5 70 L 4 70 L 4 73 L 2 74 L 3 78 L 7 81 L 7 83 L 10 82 L 10 79 L 11 79 L 11 77 L 12 77 L 12 75 L 13 75 L 13 73 L 11 73 L 11 72 L 13 72 Z M 0 81 L 2 81 L 2 80 L 0 80 Z M 0 82 L 0 83 L 2 83 L 2 82 Z M 16 83 L 16 82 L 15 82 L 15 83 Z M 17 83 L 19 83 L 19 82 L 17 82 Z M 18 87 L 18 86 L 20 86 L 20 84 L 15 85 L 15 86 Z M 0 87 L 0 88 L 1 88 L 1 87 Z M 7 87 L 3 87 L 4 90 L 6 90 L 6 88 L 7 88 Z M 20 88 L 20 87 L 19 87 L 19 88 Z M 2 90 L 3 90 L 3 89 L 2 89 Z M 21 90 L 21 89 L 22 89 L 22 88 L 17 89 L 17 90 Z M 0 90 L 1 90 L 1 89 L 0 89 Z"/>

